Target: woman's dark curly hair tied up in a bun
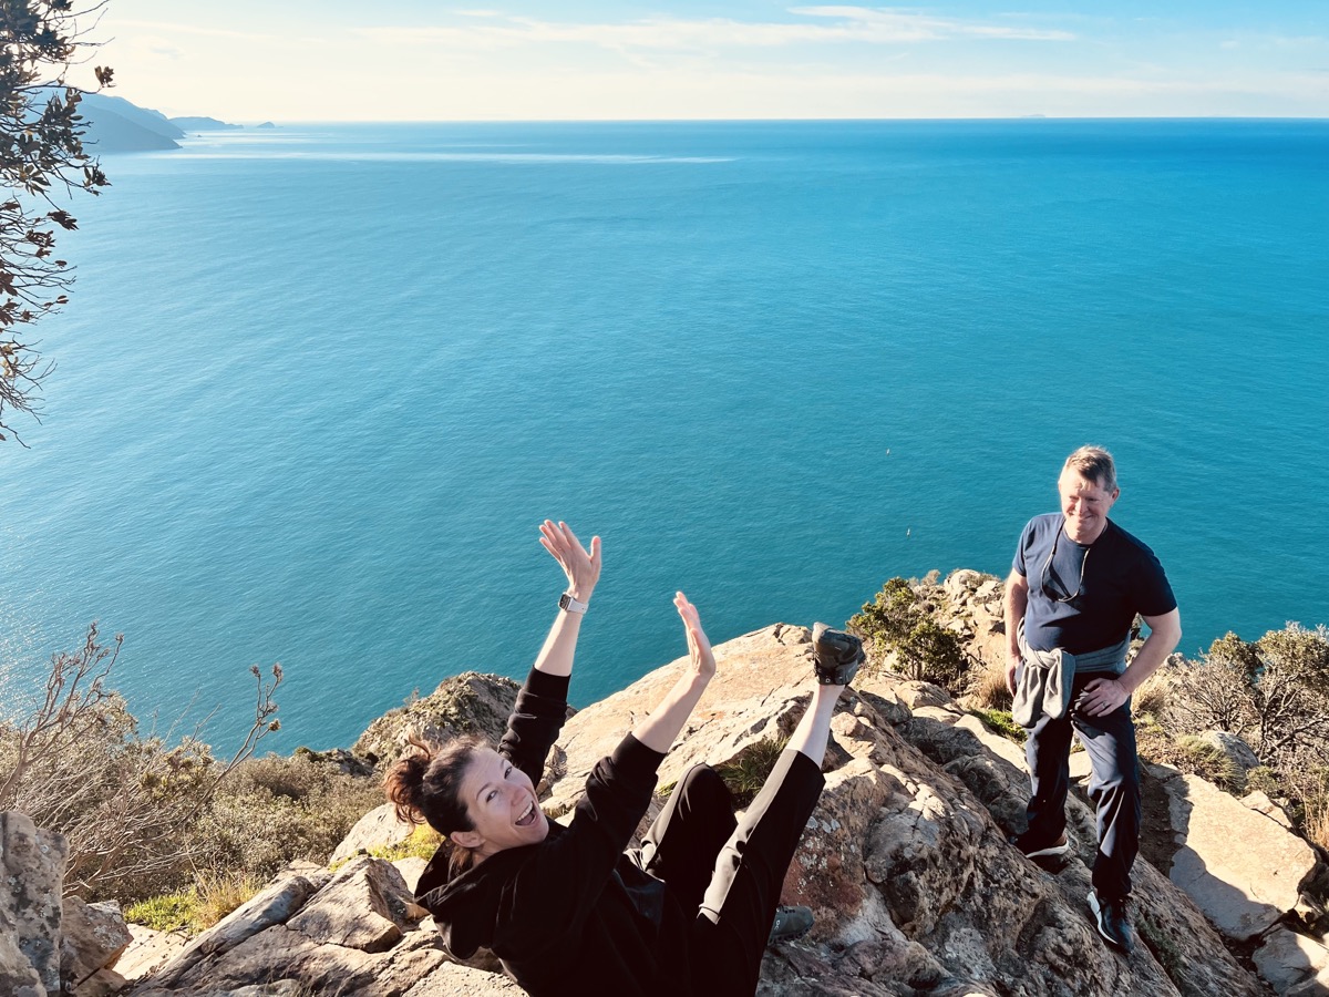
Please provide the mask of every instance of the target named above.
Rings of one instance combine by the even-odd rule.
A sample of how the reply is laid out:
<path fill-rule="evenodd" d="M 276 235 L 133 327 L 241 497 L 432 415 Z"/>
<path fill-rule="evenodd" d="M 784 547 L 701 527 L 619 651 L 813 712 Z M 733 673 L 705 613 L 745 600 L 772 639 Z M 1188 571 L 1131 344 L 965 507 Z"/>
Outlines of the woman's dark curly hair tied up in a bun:
<path fill-rule="evenodd" d="M 453 872 L 470 864 L 470 851 L 456 844 L 453 831 L 470 831 L 474 824 L 461 799 L 461 779 L 478 751 L 492 747 L 488 738 L 468 734 L 436 746 L 416 734 L 409 735 L 415 748 L 388 768 L 383 778 L 383 792 L 405 824 L 427 823 L 443 835 L 444 848 L 452 855 Z"/>

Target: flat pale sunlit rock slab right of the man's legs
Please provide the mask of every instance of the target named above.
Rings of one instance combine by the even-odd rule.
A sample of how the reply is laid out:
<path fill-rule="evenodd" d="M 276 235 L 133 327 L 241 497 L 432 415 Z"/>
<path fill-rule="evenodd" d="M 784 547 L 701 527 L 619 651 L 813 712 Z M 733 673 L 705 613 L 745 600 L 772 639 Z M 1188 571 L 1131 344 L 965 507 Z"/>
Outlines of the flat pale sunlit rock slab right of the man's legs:
<path fill-rule="evenodd" d="M 1150 771 L 1168 794 L 1180 845 L 1168 876 L 1220 932 L 1247 941 L 1296 908 L 1316 872 L 1310 845 L 1199 776 Z"/>

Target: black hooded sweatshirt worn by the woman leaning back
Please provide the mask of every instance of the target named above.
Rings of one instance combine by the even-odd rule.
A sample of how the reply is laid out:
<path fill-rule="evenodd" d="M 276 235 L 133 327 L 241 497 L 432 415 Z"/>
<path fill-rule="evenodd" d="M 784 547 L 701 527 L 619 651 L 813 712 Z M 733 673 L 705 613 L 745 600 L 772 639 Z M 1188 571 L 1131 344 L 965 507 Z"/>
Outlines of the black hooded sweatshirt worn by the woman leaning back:
<path fill-rule="evenodd" d="M 538 786 L 567 714 L 567 678 L 532 670 L 498 752 Z M 692 993 L 691 917 L 623 849 L 650 806 L 658 751 L 626 735 L 586 780 L 567 827 L 508 848 L 457 875 L 445 849 L 420 876 L 416 900 L 459 958 L 490 949 L 536 997 Z"/>

